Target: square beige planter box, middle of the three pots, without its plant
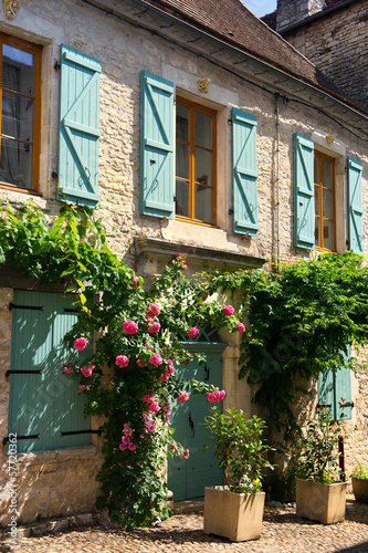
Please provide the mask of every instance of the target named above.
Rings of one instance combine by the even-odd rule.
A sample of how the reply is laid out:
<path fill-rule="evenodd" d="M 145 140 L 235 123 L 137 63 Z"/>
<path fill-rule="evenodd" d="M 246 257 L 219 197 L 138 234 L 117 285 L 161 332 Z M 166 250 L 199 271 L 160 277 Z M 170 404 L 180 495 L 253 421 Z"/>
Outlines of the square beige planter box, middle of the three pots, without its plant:
<path fill-rule="evenodd" d="M 296 515 L 334 524 L 345 520 L 347 482 L 325 484 L 296 479 Z"/>

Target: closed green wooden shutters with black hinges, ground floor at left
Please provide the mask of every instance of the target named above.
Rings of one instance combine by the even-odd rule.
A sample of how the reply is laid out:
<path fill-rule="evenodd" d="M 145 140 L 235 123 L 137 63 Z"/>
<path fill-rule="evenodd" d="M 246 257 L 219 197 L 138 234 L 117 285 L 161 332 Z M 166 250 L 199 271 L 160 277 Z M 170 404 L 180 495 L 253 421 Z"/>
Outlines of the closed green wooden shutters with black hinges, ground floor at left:
<path fill-rule="evenodd" d="M 70 361 L 63 337 L 77 316 L 65 311 L 72 307 L 73 300 L 61 294 L 14 291 L 11 371 L 33 373 L 10 374 L 8 432 L 39 435 L 39 439 L 20 439 L 19 452 L 91 441 L 90 434 L 61 435 L 91 428 L 90 416 L 85 418 L 83 414 L 85 397 L 78 395 L 77 382 L 62 373 L 63 363 Z"/>

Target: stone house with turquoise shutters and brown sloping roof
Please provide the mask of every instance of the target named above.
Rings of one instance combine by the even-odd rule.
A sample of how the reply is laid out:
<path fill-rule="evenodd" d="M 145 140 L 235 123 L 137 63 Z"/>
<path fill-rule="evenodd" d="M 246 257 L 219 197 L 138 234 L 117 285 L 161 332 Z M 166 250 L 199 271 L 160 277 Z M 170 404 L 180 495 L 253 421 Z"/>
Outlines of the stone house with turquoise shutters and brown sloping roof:
<path fill-rule="evenodd" d="M 51 218 L 59 194 L 98 204 L 109 247 L 145 278 L 176 253 L 197 271 L 367 250 L 368 112 L 240 0 L 19 4 L 0 12 L 1 199 L 31 199 Z M 1 268 L 0 286 L 1 522 L 13 431 L 20 520 L 90 511 L 97 421 L 83 419 L 60 368 L 75 315 L 61 285 Z M 202 336 L 225 407 L 251 413 L 238 338 Z M 368 387 L 359 373 L 343 385 L 350 467 L 368 460 Z M 175 499 L 199 493 L 189 484 L 206 458 L 193 459 L 180 478 L 169 467 Z"/>

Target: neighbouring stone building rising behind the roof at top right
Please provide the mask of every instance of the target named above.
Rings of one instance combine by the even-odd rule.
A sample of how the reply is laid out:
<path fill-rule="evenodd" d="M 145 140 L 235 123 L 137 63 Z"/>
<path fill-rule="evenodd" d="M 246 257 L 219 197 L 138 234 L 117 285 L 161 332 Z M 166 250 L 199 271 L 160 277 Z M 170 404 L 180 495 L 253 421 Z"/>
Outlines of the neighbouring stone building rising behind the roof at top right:
<path fill-rule="evenodd" d="M 278 0 L 262 20 L 368 108 L 367 0 Z"/>

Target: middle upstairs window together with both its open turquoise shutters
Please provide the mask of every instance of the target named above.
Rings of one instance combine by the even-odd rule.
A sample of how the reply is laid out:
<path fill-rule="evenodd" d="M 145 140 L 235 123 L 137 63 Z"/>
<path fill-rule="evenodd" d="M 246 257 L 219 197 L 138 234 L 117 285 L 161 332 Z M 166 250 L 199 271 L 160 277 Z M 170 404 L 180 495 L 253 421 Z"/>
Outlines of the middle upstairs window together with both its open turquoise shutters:
<path fill-rule="evenodd" d="M 174 97 L 172 82 L 141 72 L 140 213 L 214 226 L 217 112 L 177 97 L 175 136 Z M 233 205 L 230 209 L 224 205 L 221 208 L 233 215 L 234 232 L 255 236 L 259 232 L 256 118 L 233 107 L 229 121 Z"/>

